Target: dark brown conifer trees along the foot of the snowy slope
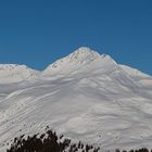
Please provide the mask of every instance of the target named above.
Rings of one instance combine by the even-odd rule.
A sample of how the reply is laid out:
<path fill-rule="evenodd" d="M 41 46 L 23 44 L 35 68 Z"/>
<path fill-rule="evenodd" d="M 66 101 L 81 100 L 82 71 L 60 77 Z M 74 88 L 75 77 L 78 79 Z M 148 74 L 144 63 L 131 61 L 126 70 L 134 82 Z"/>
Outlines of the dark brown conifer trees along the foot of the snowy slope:
<path fill-rule="evenodd" d="M 99 152 L 100 148 L 96 148 L 93 144 L 85 144 L 81 141 L 78 143 L 72 143 L 72 141 L 65 138 L 63 135 L 56 135 L 55 131 L 50 129 L 48 126 L 45 134 L 37 134 L 26 137 L 15 137 L 11 147 L 7 152 Z M 110 151 L 109 151 L 110 152 Z M 119 150 L 115 152 L 152 152 L 147 148 L 138 150 Z"/>

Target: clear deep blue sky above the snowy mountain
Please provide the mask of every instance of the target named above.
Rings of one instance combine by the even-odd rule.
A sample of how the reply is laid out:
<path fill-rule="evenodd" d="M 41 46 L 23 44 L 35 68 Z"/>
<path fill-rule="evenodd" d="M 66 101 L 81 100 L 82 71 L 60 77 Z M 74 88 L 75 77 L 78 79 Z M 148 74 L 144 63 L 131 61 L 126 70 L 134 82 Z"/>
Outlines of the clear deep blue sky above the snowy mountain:
<path fill-rule="evenodd" d="M 43 69 L 81 46 L 152 75 L 152 0 L 0 1 L 0 63 Z"/>

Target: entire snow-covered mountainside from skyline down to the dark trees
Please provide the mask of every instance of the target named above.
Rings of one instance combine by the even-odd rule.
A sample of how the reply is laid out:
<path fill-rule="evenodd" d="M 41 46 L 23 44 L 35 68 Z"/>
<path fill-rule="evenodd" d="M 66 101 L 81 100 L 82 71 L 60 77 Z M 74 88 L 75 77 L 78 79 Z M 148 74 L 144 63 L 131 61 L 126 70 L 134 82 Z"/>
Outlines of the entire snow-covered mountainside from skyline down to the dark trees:
<path fill-rule="evenodd" d="M 42 72 L 1 64 L 0 152 L 47 125 L 105 150 L 151 148 L 152 77 L 85 47 Z"/>

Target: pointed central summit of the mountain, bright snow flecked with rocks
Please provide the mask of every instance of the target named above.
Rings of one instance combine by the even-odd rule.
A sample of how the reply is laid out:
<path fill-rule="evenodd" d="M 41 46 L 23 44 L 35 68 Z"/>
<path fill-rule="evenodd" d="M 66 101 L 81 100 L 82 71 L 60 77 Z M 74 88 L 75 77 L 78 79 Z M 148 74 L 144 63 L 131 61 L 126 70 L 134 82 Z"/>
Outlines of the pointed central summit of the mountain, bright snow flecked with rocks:
<path fill-rule="evenodd" d="M 69 55 L 58 60 L 53 64 L 49 65 L 45 71 L 43 75 L 46 76 L 53 76 L 53 75 L 67 75 L 72 74 L 73 72 L 80 71 L 86 66 L 100 66 L 101 67 L 105 64 L 116 64 L 115 61 L 106 54 L 100 55 L 98 52 L 91 50 L 87 47 L 80 47 Z M 87 67 L 88 68 L 88 67 Z M 87 69 L 86 68 L 86 69 Z M 90 68 L 88 68 L 90 69 Z"/>

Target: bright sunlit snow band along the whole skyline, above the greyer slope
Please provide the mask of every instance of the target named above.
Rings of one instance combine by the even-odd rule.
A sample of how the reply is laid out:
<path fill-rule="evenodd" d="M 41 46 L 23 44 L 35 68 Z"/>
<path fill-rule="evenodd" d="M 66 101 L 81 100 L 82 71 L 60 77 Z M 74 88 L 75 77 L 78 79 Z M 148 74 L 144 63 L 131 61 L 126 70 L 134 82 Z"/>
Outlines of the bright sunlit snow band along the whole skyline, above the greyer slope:
<path fill-rule="evenodd" d="M 96 66 L 94 66 L 96 65 Z M 87 67 L 89 66 L 89 68 Z M 38 72 L 27 67 L 26 65 L 18 64 L 0 64 L 0 84 L 5 83 L 18 83 L 23 80 L 28 80 L 36 77 L 60 77 L 66 76 L 76 72 L 90 71 L 94 68 L 99 69 L 105 66 L 112 66 L 117 68 L 118 66 L 122 71 L 126 72 L 126 75 L 131 76 L 143 76 L 148 75 L 134 69 L 126 65 L 118 65 L 110 55 L 99 54 L 98 52 L 91 50 L 87 47 L 80 47 L 69 55 L 58 60 L 56 62 L 49 65 L 45 71 Z M 112 68 L 111 67 L 111 68 Z M 109 67 L 107 67 L 109 68 Z"/>

